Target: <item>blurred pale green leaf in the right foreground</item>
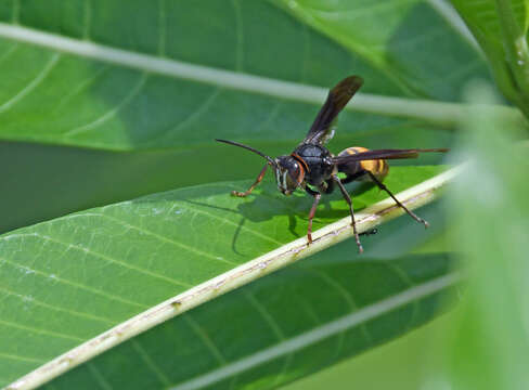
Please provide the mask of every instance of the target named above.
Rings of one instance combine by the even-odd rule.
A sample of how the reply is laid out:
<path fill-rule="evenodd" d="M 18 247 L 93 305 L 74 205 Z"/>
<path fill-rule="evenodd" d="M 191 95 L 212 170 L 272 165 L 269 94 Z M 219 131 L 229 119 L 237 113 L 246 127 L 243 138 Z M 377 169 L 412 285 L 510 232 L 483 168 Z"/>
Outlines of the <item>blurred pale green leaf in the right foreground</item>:
<path fill-rule="evenodd" d="M 470 98 L 492 100 L 482 86 Z M 528 150 L 506 135 L 512 123 L 482 106 L 464 126 L 460 153 L 469 162 L 451 191 L 451 233 L 468 286 L 449 338 L 446 381 L 454 389 L 524 388 L 529 379 Z"/>

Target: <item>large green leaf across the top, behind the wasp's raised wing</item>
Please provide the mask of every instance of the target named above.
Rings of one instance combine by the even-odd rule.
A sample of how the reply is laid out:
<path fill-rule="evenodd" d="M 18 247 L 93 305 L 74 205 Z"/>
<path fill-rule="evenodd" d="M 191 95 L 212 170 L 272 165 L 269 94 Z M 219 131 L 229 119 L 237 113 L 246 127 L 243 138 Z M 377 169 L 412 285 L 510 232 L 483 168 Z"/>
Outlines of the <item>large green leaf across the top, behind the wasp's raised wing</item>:
<path fill-rule="evenodd" d="M 457 102 L 468 75 L 488 78 L 474 49 L 422 1 L 324 5 L 317 24 L 283 3 L 3 1 L 0 72 L 13 76 L 0 88 L 0 138 L 111 150 L 215 136 L 298 142 L 325 91 L 352 73 L 371 95 L 350 108 L 380 115 L 344 114 L 343 133 L 446 126 L 461 106 L 436 101 Z M 297 4 L 295 14 L 322 4 Z M 370 17 L 351 24 L 358 14 Z"/>

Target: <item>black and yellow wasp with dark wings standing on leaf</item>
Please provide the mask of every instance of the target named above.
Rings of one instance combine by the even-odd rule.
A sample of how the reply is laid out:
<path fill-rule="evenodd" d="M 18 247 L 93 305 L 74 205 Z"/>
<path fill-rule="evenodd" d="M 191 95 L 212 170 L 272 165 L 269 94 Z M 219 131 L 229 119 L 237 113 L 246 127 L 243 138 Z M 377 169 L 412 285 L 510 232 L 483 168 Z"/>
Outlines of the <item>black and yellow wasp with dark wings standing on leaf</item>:
<path fill-rule="evenodd" d="M 233 191 L 232 195 L 245 197 L 254 191 L 261 182 L 268 167 L 272 167 L 278 182 L 278 188 L 284 195 L 291 195 L 294 191 L 301 188 L 313 197 L 312 207 L 309 212 L 307 227 L 308 244 L 312 243 L 312 219 L 320 203 L 322 194 L 332 193 L 338 187 L 349 206 L 351 225 L 357 242 L 358 251 L 363 251 L 360 243 L 360 235 L 354 222 L 352 199 L 344 184 L 352 181 L 369 181 L 385 191 L 411 218 L 423 223 L 426 222 L 413 211 L 408 209 L 397 197 L 384 185 L 384 178 L 388 174 L 389 166 L 387 159 L 416 158 L 420 153 L 425 152 L 448 152 L 448 148 L 409 148 L 409 150 L 373 150 L 361 146 L 348 147 L 334 156 L 324 145 L 333 138 L 336 130 L 336 119 L 351 98 L 362 87 L 363 80 L 359 76 L 350 76 L 338 82 L 327 95 L 325 103 L 318 113 L 305 140 L 289 155 L 271 158 L 266 154 L 234 141 L 216 140 L 230 145 L 243 147 L 264 158 L 267 164 L 259 172 L 256 181 L 245 192 Z M 345 178 L 338 178 L 338 172 L 345 173 Z"/>

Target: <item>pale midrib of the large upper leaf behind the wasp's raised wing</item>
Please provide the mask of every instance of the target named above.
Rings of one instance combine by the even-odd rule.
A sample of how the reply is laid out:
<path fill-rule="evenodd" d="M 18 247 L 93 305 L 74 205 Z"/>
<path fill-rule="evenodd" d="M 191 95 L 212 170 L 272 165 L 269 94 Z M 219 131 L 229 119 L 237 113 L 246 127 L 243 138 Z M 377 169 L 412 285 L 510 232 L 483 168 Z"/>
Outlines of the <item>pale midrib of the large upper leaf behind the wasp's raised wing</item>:
<path fill-rule="evenodd" d="M 327 89 L 321 87 L 137 53 L 28 27 L 13 26 L 7 23 L 0 23 L 0 37 L 113 65 L 134 68 L 147 74 L 159 74 L 231 90 L 259 93 L 314 105 L 320 105 L 327 94 Z M 467 105 L 463 103 L 436 102 L 369 93 L 359 93 L 346 108 L 353 112 L 415 118 L 448 127 L 455 126 L 459 119 L 466 115 L 468 109 Z M 495 105 L 491 106 L 491 108 L 502 110 L 512 117 L 520 117 L 518 110 L 508 106 Z"/>

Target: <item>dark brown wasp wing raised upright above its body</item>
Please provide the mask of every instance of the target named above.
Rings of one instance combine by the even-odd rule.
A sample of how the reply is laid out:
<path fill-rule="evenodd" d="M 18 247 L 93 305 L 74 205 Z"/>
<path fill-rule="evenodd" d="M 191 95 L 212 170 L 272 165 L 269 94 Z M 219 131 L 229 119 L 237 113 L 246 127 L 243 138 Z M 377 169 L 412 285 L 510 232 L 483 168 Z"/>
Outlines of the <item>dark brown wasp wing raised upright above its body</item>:
<path fill-rule="evenodd" d="M 331 140 L 336 128 L 336 117 L 346 106 L 347 102 L 357 93 L 362 87 L 363 80 L 359 76 L 349 76 L 338 82 L 327 95 L 327 100 L 323 107 L 318 113 L 318 116 L 312 123 L 302 144 L 318 144 L 322 145 Z"/>

